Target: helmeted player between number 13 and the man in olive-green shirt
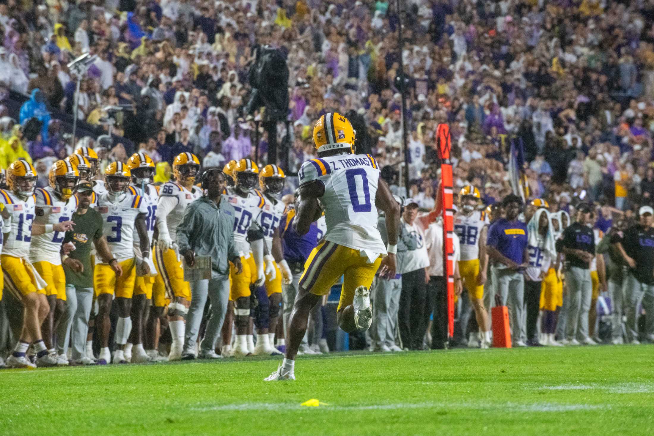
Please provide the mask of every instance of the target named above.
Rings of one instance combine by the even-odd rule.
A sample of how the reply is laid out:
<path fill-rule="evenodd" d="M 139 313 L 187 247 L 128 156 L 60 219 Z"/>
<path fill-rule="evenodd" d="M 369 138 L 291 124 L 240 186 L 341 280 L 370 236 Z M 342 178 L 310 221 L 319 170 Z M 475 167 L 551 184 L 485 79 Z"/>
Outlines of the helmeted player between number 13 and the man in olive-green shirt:
<path fill-rule="evenodd" d="M 77 210 L 77 197 L 73 190 L 79 181 L 79 173 L 75 165 L 69 161 L 56 161 L 50 168 L 48 182 L 50 186 L 36 189 L 35 200 L 35 224 L 43 226 L 70 221 L 73 213 Z M 58 231 L 54 234 L 44 233 L 33 237 L 31 250 L 29 250 L 29 261 L 48 284 L 46 286 L 46 299 L 50 305 L 50 312 L 41 326 L 43 341 L 48 347 L 50 354 L 54 350 L 54 318 L 59 321 L 65 311 L 66 302 L 66 277 L 61 266 L 61 243 L 65 233 Z M 55 316 L 55 309 L 57 314 Z M 67 324 L 67 323 L 65 323 Z M 67 350 L 60 350 L 55 354 L 58 365 L 67 365 Z"/>

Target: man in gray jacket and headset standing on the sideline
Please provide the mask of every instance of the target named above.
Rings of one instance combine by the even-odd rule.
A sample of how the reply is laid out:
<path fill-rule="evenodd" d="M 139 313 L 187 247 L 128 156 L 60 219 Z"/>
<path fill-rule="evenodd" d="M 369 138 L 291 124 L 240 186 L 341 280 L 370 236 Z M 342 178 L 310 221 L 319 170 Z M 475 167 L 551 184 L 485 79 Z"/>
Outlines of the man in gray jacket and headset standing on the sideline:
<path fill-rule="evenodd" d="M 191 307 L 186 318 L 186 335 L 182 360 L 196 358 L 196 341 L 207 296 L 211 300 L 211 318 L 205 338 L 200 344 L 199 358 L 220 358 L 215 348 L 225 319 L 230 297 L 230 264 L 237 274 L 243 270 L 233 239 L 234 210 L 222 201 L 226 178 L 220 169 L 205 171 L 202 189 L 205 195 L 186 208 L 177 227 L 177 245 L 186 265 L 193 266 L 196 256 L 211 257 L 211 280 L 191 282 Z"/>

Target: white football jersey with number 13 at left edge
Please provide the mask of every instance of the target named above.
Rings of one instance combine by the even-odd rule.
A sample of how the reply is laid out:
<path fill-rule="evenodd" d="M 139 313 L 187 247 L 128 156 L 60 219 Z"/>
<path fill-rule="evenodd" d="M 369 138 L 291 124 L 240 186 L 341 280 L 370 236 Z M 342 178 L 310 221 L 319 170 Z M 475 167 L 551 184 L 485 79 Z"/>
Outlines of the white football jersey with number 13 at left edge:
<path fill-rule="evenodd" d="M 5 204 L 11 215 L 11 230 L 5 241 L 3 254 L 27 259 L 29 244 L 32 240 L 35 196 L 31 195 L 26 201 L 23 201 L 9 190 L 0 190 L 0 201 Z"/>

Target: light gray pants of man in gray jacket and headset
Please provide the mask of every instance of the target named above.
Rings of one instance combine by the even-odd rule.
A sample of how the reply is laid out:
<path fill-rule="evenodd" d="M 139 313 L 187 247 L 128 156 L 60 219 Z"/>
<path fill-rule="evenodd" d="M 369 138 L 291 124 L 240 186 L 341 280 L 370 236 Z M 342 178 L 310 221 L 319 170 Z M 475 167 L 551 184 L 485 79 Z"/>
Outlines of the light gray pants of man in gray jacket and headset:
<path fill-rule="evenodd" d="M 215 275 L 211 280 L 191 282 L 191 305 L 186 314 L 183 354 L 196 354 L 196 342 L 207 297 L 211 301 L 211 318 L 207 322 L 207 331 L 200 344 L 200 352 L 216 348 L 230 299 L 230 278 L 227 275 Z"/>

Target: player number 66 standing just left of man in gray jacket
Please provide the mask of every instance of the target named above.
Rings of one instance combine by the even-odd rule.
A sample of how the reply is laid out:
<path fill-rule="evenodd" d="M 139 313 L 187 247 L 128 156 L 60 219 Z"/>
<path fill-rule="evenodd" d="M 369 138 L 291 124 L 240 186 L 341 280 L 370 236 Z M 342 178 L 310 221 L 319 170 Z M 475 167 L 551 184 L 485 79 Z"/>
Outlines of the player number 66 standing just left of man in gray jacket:
<path fill-rule="evenodd" d="M 163 311 L 168 304 L 168 327 L 173 343 L 168 360 L 181 360 L 184 350 L 184 316 L 188 312 L 191 288 L 184 281 L 184 269 L 177 249 L 175 237 L 177 226 L 182 222 L 186 206 L 202 196 L 201 188 L 194 186 L 200 171 L 200 162 L 192 153 L 180 153 L 173 160 L 173 177 L 175 181 L 163 184 L 159 190 L 156 210 L 156 227 L 159 237 L 153 249 L 154 266 L 157 276 L 152 288 L 154 315 Z M 152 316 L 152 314 L 150 314 Z M 150 330 L 150 329 L 148 329 Z M 152 330 L 150 330 L 152 331 Z M 158 343 L 154 338 L 152 344 Z M 148 350 L 152 356 L 153 352 Z"/>

